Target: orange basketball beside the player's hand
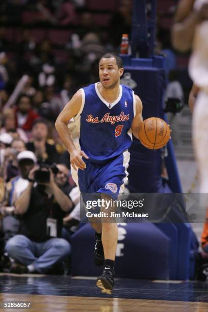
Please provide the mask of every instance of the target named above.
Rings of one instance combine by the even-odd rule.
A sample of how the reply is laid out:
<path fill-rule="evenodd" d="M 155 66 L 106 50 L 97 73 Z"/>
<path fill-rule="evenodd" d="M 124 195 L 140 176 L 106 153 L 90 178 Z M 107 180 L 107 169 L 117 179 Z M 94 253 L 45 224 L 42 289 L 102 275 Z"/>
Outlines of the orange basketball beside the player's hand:
<path fill-rule="evenodd" d="M 138 136 L 145 147 L 159 149 L 168 143 L 170 134 L 170 127 L 163 119 L 150 117 L 142 122 Z"/>

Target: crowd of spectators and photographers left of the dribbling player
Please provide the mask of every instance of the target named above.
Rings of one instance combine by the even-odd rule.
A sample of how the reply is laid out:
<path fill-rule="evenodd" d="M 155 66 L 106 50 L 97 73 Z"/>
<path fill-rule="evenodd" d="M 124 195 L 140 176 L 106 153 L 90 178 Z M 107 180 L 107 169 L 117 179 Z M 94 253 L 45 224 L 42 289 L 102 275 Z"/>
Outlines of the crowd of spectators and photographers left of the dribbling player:
<path fill-rule="evenodd" d="M 80 194 L 54 122 L 76 90 L 98 81 L 99 58 L 119 47 L 108 39 L 110 30 L 94 27 L 89 12 L 80 11 L 77 18 L 84 5 L 83 0 L 0 4 L 2 270 L 69 269 L 63 261 L 80 223 Z M 66 40 L 60 44 L 63 32 Z M 40 172 L 48 179 L 39 179 Z"/>

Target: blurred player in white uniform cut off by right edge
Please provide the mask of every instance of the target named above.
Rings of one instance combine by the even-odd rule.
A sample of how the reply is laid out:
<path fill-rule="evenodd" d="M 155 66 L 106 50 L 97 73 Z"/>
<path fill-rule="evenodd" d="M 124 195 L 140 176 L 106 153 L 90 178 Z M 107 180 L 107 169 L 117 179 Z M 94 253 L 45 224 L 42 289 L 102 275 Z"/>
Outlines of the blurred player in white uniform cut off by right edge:
<path fill-rule="evenodd" d="M 200 175 L 200 205 L 208 206 L 208 1 L 181 0 L 176 13 L 172 32 L 173 45 L 180 51 L 192 47 L 193 54 L 189 73 L 194 85 L 189 96 L 189 106 L 193 110 L 193 140 Z M 204 250 L 208 251 L 208 210 L 201 236 Z M 206 246 L 206 247 L 205 247 Z"/>

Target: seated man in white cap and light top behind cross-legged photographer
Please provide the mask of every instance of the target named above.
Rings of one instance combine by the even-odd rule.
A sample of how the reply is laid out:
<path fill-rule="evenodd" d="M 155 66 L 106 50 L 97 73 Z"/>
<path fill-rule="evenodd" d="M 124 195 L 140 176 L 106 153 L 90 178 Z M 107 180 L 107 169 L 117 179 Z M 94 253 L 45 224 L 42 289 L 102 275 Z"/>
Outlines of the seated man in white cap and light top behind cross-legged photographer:
<path fill-rule="evenodd" d="M 33 169 L 37 159 L 31 151 L 24 150 L 17 156 L 19 175 L 12 178 L 6 185 L 6 197 L 1 213 L 4 215 L 2 220 L 2 230 L 5 235 L 5 242 L 17 234 L 19 220 L 14 216 L 14 201 L 28 187 L 28 176 Z"/>

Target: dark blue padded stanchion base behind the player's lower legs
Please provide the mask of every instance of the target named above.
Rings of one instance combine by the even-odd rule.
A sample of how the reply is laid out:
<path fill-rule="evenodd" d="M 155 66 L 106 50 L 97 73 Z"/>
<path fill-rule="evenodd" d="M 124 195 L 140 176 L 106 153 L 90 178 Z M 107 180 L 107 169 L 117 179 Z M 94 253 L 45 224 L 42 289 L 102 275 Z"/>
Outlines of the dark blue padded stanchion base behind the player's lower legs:
<path fill-rule="evenodd" d="M 84 225 L 72 236 L 72 275 L 97 276 L 94 230 Z M 119 225 L 116 277 L 168 279 L 170 239 L 154 224 Z M 125 268 L 125 269 L 124 269 Z"/>

